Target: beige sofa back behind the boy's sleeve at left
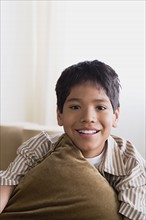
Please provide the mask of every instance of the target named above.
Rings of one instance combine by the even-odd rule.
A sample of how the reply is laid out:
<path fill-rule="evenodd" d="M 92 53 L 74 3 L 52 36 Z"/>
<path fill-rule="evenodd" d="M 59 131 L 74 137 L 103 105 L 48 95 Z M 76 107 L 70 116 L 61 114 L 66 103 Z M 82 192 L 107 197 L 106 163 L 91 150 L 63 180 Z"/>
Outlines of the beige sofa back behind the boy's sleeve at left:
<path fill-rule="evenodd" d="M 16 157 L 17 148 L 26 140 L 46 130 L 49 135 L 60 130 L 43 126 L 0 125 L 0 170 L 5 170 Z"/>

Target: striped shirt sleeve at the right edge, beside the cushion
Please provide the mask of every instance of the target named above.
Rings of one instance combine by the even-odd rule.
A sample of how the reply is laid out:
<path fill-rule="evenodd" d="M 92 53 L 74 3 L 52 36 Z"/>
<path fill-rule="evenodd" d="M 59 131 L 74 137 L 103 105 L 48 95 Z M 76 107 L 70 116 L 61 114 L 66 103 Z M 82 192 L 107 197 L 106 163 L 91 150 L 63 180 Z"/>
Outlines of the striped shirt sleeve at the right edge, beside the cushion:
<path fill-rule="evenodd" d="M 146 173 L 144 167 L 129 158 L 125 164 L 127 175 L 116 184 L 118 199 L 121 202 L 119 212 L 132 220 L 146 219 Z"/>

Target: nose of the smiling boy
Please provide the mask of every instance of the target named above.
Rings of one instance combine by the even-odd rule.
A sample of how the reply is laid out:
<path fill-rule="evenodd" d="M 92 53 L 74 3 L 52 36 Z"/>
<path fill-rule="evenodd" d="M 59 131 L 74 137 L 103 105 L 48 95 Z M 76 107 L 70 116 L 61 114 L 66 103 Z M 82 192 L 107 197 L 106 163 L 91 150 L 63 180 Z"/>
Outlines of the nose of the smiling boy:
<path fill-rule="evenodd" d="M 94 110 L 85 110 L 81 115 L 81 122 L 94 123 L 97 120 L 97 115 Z"/>

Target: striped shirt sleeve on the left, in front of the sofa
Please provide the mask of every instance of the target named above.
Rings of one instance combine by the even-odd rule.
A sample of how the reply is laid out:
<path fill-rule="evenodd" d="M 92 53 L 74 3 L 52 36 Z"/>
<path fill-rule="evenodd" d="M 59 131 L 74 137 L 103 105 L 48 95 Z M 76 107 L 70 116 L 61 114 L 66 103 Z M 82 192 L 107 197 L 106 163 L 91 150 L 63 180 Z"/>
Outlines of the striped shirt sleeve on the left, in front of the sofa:
<path fill-rule="evenodd" d="M 20 179 L 52 149 L 53 143 L 46 132 L 24 142 L 17 150 L 17 157 L 7 170 L 0 171 L 0 185 L 17 185 Z"/>

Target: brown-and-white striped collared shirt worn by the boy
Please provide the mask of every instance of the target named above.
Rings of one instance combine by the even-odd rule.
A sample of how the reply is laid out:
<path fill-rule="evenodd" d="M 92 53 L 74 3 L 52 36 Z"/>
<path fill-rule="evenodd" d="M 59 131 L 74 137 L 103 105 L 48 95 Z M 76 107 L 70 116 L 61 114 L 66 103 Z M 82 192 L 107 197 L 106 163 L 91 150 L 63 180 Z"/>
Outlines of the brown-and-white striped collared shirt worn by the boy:
<path fill-rule="evenodd" d="M 0 171 L 1 185 L 17 185 L 32 167 L 45 158 L 59 137 L 41 132 L 24 142 L 7 170 Z M 117 192 L 119 212 L 132 220 L 145 220 L 146 162 L 136 148 L 129 141 L 110 136 L 102 160 L 95 167 Z"/>

